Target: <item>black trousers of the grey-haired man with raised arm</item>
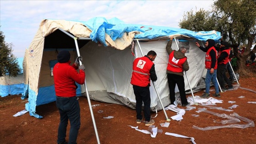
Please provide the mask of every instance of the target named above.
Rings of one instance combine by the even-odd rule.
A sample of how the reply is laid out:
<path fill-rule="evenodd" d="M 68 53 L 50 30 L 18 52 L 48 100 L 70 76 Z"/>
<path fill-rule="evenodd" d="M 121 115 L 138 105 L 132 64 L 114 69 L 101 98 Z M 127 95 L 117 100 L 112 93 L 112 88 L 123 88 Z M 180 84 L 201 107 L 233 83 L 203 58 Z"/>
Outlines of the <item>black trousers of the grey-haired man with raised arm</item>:
<path fill-rule="evenodd" d="M 167 73 L 167 79 L 168 79 L 168 85 L 169 85 L 169 90 L 170 90 L 171 104 L 174 104 L 174 101 L 175 101 L 176 84 L 178 86 L 178 89 L 179 89 L 179 92 L 181 95 L 181 104 L 187 104 L 184 77 L 182 75 L 175 75 L 175 74 Z"/>

